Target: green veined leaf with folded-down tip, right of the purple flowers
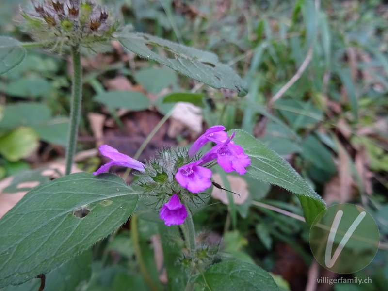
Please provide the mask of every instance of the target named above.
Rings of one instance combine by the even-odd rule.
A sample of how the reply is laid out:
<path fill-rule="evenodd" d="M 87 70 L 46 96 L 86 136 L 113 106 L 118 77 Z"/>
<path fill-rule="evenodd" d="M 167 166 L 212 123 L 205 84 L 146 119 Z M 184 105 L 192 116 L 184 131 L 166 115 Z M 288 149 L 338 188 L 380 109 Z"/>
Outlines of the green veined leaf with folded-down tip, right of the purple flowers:
<path fill-rule="evenodd" d="M 230 130 L 229 133 L 231 132 L 233 131 Z M 245 131 L 236 129 L 233 141 L 236 145 L 242 146 L 245 154 L 251 158 L 247 175 L 295 193 L 302 205 L 306 222 L 311 225 L 315 217 L 325 208 L 322 198 L 311 189 L 288 162 L 258 139 Z"/>

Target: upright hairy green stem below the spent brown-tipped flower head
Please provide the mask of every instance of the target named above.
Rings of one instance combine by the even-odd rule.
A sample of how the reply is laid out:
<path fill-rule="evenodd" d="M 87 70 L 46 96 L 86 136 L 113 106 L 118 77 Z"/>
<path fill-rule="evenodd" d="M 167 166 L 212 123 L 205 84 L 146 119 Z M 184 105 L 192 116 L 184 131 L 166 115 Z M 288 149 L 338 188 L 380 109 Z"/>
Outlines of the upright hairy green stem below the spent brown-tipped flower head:
<path fill-rule="evenodd" d="M 80 124 L 81 115 L 81 100 L 82 100 L 82 66 L 81 53 L 78 46 L 71 48 L 71 56 L 73 58 L 73 76 L 71 90 L 71 107 L 70 107 L 70 126 L 67 136 L 66 147 L 66 172 L 70 174 L 73 164 L 74 153 L 76 150 L 78 126 Z"/>

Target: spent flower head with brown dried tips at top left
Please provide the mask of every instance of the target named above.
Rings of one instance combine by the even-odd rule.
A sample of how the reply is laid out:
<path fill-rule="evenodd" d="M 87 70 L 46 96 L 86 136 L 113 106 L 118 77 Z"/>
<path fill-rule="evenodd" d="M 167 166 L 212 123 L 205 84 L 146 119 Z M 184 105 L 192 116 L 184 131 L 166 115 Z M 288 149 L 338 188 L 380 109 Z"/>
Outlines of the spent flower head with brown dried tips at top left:
<path fill-rule="evenodd" d="M 32 0 L 33 8 L 21 16 L 24 28 L 47 48 L 62 53 L 63 46 L 101 51 L 118 29 L 117 20 L 94 0 Z"/>

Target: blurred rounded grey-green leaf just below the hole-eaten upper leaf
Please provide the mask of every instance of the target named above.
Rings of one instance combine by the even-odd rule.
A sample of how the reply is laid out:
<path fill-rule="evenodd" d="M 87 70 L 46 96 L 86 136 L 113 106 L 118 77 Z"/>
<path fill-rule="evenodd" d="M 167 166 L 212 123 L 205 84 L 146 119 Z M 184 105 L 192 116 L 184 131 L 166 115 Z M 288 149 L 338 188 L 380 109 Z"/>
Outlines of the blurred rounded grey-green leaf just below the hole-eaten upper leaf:
<path fill-rule="evenodd" d="M 162 89 L 177 83 L 178 78 L 170 68 L 146 68 L 135 73 L 135 80 L 149 93 L 159 93 Z"/>

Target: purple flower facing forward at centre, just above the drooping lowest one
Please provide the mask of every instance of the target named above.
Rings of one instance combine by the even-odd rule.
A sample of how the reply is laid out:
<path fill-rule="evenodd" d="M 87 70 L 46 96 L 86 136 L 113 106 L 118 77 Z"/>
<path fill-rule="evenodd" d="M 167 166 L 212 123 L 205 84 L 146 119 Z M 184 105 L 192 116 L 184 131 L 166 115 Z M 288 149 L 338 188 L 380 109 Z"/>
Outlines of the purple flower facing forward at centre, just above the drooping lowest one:
<path fill-rule="evenodd" d="M 206 190 L 211 186 L 211 170 L 198 166 L 201 162 L 202 160 L 199 160 L 184 165 L 180 167 L 177 174 L 175 174 L 175 179 L 180 186 L 193 193 Z"/>

